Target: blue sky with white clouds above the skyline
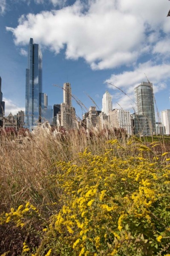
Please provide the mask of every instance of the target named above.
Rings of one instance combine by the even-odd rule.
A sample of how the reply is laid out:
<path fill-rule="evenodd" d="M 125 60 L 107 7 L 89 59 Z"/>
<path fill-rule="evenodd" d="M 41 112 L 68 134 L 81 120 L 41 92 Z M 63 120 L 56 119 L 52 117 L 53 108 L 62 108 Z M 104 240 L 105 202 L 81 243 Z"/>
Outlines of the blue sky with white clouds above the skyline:
<path fill-rule="evenodd" d="M 0 0 L 0 76 L 5 116 L 25 110 L 28 44 L 43 54 L 48 105 L 70 82 L 77 115 L 112 107 L 134 112 L 134 87 L 153 83 L 156 113 L 170 109 L 168 0 Z M 81 103 L 80 103 L 81 102 Z M 80 106 L 81 105 L 81 106 Z"/>

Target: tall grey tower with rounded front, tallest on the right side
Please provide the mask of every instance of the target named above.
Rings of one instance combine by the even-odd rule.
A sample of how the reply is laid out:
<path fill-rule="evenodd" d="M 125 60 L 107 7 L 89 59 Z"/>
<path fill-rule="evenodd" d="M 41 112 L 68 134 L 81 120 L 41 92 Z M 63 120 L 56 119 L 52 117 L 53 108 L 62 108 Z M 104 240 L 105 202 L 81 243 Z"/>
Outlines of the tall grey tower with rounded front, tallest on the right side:
<path fill-rule="evenodd" d="M 153 84 L 141 82 L 135 87 L 135 113 L 146 116 L 149 124 L 149 134 L 156 133 Z"/>

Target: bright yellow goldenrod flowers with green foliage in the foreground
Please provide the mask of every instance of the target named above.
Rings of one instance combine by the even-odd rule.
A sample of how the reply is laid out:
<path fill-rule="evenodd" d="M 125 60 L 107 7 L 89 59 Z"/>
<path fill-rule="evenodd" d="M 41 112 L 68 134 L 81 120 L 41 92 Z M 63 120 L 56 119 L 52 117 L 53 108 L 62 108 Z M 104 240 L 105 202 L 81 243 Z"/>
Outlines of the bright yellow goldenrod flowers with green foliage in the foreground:
<path fill-rule="evenodd" d="M 133 139 L 124 146 L 118 140 L 108 144 L 102 155 L 86 149 L 77 160 L 55 163 L 57 171 L 49 179 L 62 191 L 61 207 L 46 227 L 42 223 L 37 255 L 142 256 L 164 248 L 169 255 L 170 164 L 163 160 L 168 152 L 160 158 L 152 153 L 153 145 Z M 38 214 L 30 204 L 11 209 L 0 224 L 13 221 L 22 228 L 30 211 Z M 25 244 L 26 250 L 34 255 Z"/>

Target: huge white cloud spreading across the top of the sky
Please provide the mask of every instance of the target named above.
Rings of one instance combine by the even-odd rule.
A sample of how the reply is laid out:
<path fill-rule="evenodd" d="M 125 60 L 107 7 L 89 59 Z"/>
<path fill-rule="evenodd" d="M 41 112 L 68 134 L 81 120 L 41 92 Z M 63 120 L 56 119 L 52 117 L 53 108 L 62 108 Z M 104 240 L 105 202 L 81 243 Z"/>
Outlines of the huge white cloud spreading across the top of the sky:
<path fill-rule="evenodd" d="M 61 2 L 51 1 L 54 5 Z M 86 2 L 76 0 L 60 10 L 23 15 L 16 28 L 7 30 L 13 33 L 16 45 L 28 45 L 32 37 L 56 54 L 66 46 L 66 58 L 82 57 L 95 70 L 134 64 L 142 53 L 150 52 L 160 31 L 169 32 L 168 1 Z"/>

